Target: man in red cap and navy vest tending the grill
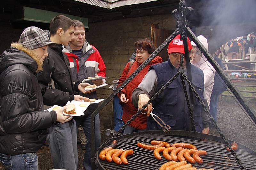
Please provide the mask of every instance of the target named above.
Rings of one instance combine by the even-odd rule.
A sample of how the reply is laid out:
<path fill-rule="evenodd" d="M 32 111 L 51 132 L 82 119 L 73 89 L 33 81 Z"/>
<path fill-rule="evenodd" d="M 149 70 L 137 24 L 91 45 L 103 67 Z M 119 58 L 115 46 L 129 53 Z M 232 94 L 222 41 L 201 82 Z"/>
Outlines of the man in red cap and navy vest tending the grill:
<path fill-rule="evenodd" d="M 187 42 L 188 49 L 191 50 L 192 46 L 189 39 Z M 149 98 L 159 91 L 159 89 L 177 73 L 180 66 L 180 57 L 184 54 L 183 41 L 180 40 L 180 35 L 178 34 L 169 43 L 168 61 L 152 65 L 138 88 L 134 89 L 132 92 L 132 102 L 135 107 L 141 109 L 142 106 L 148 102 Z M 183 59 L 183 67 L 185 69 L 185 74 L 187 74 L 185 58 Z M 204 73 L 193 65 L 191 65 L 191 73 L 194 88 L 200 98 L 204 100 Z M 211 124 L 210 119 L 205 114 L 196 98 L 194 103 L 193 119 L 196 131 L 209 133 L 209 126 Z M 169 124 L 172 130 L 189 130 L 190 118 L 180 76 L 178 76 L 178 78 L 168 85 L 167 88 L 152 101 L 152 106 L 154 107 L 152 112 L 160 117 L 166 124 Z M 148 105 L 146 110 L 147 109 L 151 109 L 150 105 Z M 158 122 L 160 121 L 158 120 Z M 152 116 L 149 116 L 147 119 L 147 130 L 161 129 L 162 127 L 152 118 Z"/>

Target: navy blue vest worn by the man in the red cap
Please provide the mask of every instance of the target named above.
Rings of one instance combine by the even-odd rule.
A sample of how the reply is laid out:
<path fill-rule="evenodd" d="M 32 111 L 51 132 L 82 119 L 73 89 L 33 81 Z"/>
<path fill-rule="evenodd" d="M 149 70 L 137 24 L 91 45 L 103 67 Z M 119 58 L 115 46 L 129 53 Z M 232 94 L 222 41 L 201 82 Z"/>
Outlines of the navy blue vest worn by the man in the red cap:
<path fill-rule="evenodd" d="M 157 91 L 177 73 L 177 69 L 171 64 L 169 59 L 164 63 L 152 65 L 149 70 L 151 69 L 156 71 L 158 79 Z M 204 100 L 204 73 L 194 65 L 191 65 L 191 72 L 194 88 L 200 98 Z M 187 92 L 189 96 L 188 85 Z M 152 104 L 154 107 L 153 113 L 163 119 L 166 124 L 169 124 L 173 130 L 189 130 L 190 117 L 180 76 L 168 85 L 168 87 L 153 100 Z M 196 131 L 198 132 L 201 132 L 203 129 L 202 110 L 202 106 L 195 98 L 194 123 Z M 150 127 L 147 127 L 147 129 L 153 130 L 159 128 L 150 129 Z"/>

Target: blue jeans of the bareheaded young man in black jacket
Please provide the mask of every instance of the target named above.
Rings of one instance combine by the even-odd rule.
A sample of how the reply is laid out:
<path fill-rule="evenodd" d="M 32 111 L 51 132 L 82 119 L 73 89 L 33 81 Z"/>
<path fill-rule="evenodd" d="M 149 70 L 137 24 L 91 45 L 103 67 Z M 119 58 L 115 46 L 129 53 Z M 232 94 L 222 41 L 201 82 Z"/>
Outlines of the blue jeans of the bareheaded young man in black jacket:
<path fill-rule="evenodd" d="M 63 124 L 53 123 L 48 132 L 54 168 L 76 170 L 78 157 L 74 118 Z"/>

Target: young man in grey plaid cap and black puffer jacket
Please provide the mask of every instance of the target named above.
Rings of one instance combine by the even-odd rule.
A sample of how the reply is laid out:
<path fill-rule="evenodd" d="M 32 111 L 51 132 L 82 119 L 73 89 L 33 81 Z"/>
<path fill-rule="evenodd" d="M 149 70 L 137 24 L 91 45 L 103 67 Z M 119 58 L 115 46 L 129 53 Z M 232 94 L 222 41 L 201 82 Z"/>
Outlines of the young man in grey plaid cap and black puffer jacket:
<path fill-rule="evenodd" d="M 46 33 L 26 28 L 17 43 L 0 55 L 0 162 L 5 169 L 38 169 L 36 151 L 53 122 L 68 122 L 57 111 L 44 111 L 35 73 L 42 70 L 48 46 Z"/>

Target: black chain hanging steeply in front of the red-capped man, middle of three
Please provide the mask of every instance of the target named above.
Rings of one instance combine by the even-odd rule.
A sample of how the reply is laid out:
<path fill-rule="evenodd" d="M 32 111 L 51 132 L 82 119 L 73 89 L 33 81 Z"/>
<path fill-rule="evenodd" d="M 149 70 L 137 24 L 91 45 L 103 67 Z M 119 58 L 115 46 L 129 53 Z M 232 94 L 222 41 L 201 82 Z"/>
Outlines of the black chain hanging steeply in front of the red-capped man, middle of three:
<path fill-rule="evenodd" d="M 180 67 L 182 68 L 182 73 L 185 72 L 185 70 L 183 68 L 183 58 L 184 58 L 184 55 L 180 55 L 180 66 L 178 68 L 178 71 L 180 70 Z M 182 84 L 183 91 L 184 91 L 184 94 L 185 94 L 186 102 L 187 102 L 187 105 L 188 105 L 188 112 L 189 112 L 190 123 L 191 123 L 190 125 L 192 126 L 192 131 L 196 131 L 196 127 L 195 127 L 195 123 L 194 123 L 194 116 L 193 116 L 194 111 L 190 107 L 190 102 L 189 102 L 189 99 L 188 99 L 188 92 L 186 90 L 186 85 L 185 85 L 183 74 L 180 74 L 180 79 L 181 79 L 181 84 Z"/>

